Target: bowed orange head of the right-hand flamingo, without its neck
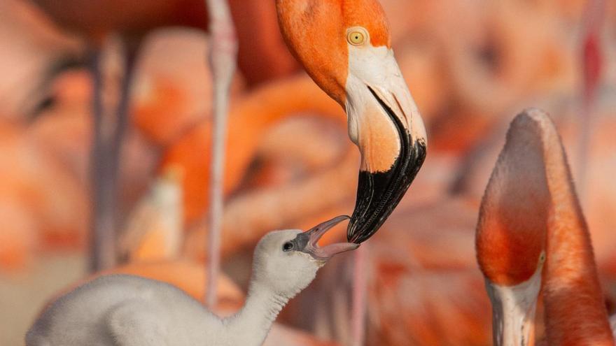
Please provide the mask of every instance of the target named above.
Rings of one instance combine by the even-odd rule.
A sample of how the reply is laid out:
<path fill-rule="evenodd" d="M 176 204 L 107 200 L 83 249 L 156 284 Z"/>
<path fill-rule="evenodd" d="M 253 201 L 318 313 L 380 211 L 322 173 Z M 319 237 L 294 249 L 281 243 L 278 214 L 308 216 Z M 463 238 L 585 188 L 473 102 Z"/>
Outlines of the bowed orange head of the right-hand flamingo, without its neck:
<path fill-rule="evenodd" d="M 494 345 L 529 345 L 533 334 L 551 208 L 541 131 L 527 113 L 512 122 L 479 210 L 477 261 Z"/>

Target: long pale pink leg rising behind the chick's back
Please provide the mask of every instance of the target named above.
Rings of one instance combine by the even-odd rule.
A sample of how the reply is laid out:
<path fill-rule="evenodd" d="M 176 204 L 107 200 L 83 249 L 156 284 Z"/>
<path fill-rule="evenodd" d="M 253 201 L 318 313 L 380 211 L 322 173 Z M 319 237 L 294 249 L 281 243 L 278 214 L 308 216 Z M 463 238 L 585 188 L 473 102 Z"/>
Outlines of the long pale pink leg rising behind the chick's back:
<path fill-rule="evenodd" d="M 223 219 L 223 173 L 229 89 L 236 68 L 237 38 L 229 6 L 225 0 L 206 0 L 210 16 L 211 43 L 209 64 L 214 85 L 214 128 L 212 136 L 210 212 L 208 237 L 208 273 L 206 303 L 216 305 L 216 282 L 221 262 L 221 226 Z"/>

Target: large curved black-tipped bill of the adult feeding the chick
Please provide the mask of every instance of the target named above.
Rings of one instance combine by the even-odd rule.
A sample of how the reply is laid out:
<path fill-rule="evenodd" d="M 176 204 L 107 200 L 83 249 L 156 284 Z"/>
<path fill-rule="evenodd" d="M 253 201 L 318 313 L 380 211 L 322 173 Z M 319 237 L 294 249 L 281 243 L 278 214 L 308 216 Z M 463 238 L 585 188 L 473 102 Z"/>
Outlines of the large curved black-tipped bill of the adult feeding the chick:
<path fill-rule="evenodd" d="M 346 113 L 361 152 L 346 233 L 362 243 L 393 212 L 426 158 L 426 129 L 391 49 L 349 48 Z"/>

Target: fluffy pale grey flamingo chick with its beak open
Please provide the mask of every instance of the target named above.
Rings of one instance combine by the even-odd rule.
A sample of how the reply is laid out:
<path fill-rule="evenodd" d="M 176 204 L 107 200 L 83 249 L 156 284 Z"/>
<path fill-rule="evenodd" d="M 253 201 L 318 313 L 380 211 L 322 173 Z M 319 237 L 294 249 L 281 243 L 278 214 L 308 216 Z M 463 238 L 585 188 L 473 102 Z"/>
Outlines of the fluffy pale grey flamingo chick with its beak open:
<path fill-rule="evenodd" d="M 264 236 L 255 248 L 248 298 L 232 317 L 217 317 L 170 284 L 106 275 L 51 303 L 28 331 L 26 345 L 262 345 L 280 310 L 318 269 L 359 246 L 317 245 L 328 229 L 348 218 Z"/>

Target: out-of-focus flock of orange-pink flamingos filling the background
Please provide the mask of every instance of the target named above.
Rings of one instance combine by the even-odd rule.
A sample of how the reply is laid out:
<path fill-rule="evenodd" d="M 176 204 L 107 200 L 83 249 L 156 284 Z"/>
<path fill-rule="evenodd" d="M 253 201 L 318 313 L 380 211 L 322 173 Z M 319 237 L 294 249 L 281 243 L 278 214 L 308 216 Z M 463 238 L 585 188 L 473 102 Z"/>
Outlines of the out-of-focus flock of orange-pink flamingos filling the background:
<path fill-rule="evenodd" d="M 351 212 L 358 169 L 342 109 L 281 45 L 274 1 L 241 1 L 246 6 L 232 1 L 240 71 L 227 142 L 223 313 L 244 299 L 258 239 L 273 229 L 307 229 Z M 149 23 L 131 3 L 191 1 L 109 1 L 123 5 L 115 10 L 82 1 L 79 6 L 93 8 L 78 10 L 92 15 L 72 21 L 78 10 L 71 6 L 80 1 L 64 7 L 55 1 L 55 12 L 49 8 L 54 1 L 36 2 L 47 3 L 46 11 L 29 1 L 0 0 L 0 345 L 22 345 L 45 303 L 90 277 L 88 52 L 102 51 L 103 103 L 113 110 L 121 52 L 128 49 L 123 43 L 134 42 L 135 32 L 104 35 L 115 23 L 110 18 L 120 17 L 118 25 Z M 599 15 L 587 15 L 589 2 L 381 0 L 429 140 L 414 184 L 366 243 L 367 345 L 491 345 L 475 223 L 507 124 L 529 106 L 547 110 L 559 128 L 614 312 L 616 3 L 606 1 Z M 152 12 L 143 16 L 156 18 Z M 125 261 L 111 271 L 168 280 L 202 297 L 209 37 L 189 18 L 198 11 L 179 13 L 188 13 L 186 27 L 161 22 L 139 28 L 116 225 Z M 107 27 L 97 22 L 101 18 Z M 585 40 L 594 27 L 594 39 Z M 260 59 L 271 66 L 264 69 Z M 584 87 L 584 78 L 596 89 Z M 344 345 L 349 261 L 340 256 L 325 266 L 283 310 L 276 333 L 301 331 L 307 340 Z"/>

